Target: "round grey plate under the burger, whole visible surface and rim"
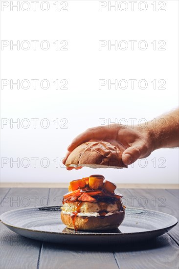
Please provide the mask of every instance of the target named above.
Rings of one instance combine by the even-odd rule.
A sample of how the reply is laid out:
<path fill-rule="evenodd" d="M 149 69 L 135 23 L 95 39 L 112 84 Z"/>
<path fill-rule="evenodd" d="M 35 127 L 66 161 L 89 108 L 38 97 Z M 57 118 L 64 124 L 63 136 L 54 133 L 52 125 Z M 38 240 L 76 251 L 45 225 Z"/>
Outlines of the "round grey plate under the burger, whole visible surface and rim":
<path fill-rule="evenodd" d="M 3 213 L 0 221 L 22 236 L 58 244 L 133 243 L 162 235 L 178 223 L 169 214 L 127 207 L 119 229 L 75 232 L 62 223 L 60 212 L 59 206 L 22 208 Z"/>

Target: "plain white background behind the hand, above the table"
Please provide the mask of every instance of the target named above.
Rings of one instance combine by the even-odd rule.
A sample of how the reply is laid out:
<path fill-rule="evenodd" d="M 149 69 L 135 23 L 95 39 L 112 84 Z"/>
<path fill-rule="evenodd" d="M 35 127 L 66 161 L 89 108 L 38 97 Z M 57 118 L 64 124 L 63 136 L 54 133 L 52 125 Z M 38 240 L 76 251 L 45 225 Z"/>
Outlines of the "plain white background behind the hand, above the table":
<path fill-rule="evenodd" d="M 1 168 L 1 182 L 68 182 L 95 173 L 118 183 L 178 183 L 178 149 L 157 150 L 146 160 L 134 163 L 134 167 L 122 170 L 83 168 L 67 171 L 61 159 L 71 140 L 87 128 L 98 126 L 100 118 L 106 119 L 107 123 L 125 118 L 128 124 L 131 124 L 129 118 L 136 118 L 137 124 L 141 118 L 149 120 L 178 106 L 179 2 L 137 1 L 134 11 L 130 1 L 117 1 L 122 4 L 120 9 L 126 7 L 126 11 L 119 8 L 108 11 L 108 5 L 99 11 L 100 3 L 96 0 L 68 0 L 67 11 L 60 11 L 66 4 L 62 1 L 58 1 L 58 11 L 54 5 L 57 1 L 53 0 L 47 1 L 47 11 L 40 7 L 41 0 L 37 2 L 36 11 L 31 1 L 25 1 L 28 3 L 22 7 L 22 1 L 19 2 L 20 10 L 17 11 L 11 6 L 17 1 L 1 1 L 1 40 L 9 44 L 11 40 L 13 43 L 19 40 L 20 44 L 27 40 L 30 48 L 1 47 L 1 82 L 2 79 L 9 82 L 46 79 L 50 87 L 42 89 L 38 82 L 36 90 L 33 83 L 26 90 L 21 86 L 20 89 L 17 86 L 10 89 L 10 84 L 1 89 L 1 118 L 9 122 L 1 125 L 1 162 L 7 161 Z M 9 5 L 2 10 L 2 3 Z M 156 4 L 156 11 L 152 3 Z M 44 3 L 43 8 L 46 6 Z M 140 10 L 146 6 L 145 11 Z M 22 10 L 28 7 L 28 11 Z M 159 8 L 165 11 L 158 11 Z M 39 41 L 36 50 L 31 40 Z M 47 50 L 40 47 L 44 40 L 50 44 Z M 64 45 L 60 42 L 66 40 L 67 50 L 56 50 L 53 44 L 56 40 L 60 47 Z M 111 47 L 109 50 L 104 46 L 99 50 L 99 40 L 111 40 L 111 43 L 125 40 L 128 48 L 115 50 Z M 134 50 L 130 40 L 136 40 Z M 141 40 L 148 45 L 145 50 L 138 48 Z M 152 44 L 154 40 L 156 50 Z M 161 40 L 166 42 L 165 50 L 158 50 L 163 44 L 158 44 Z M 66 79 L 68 89 L 56 90 L 53 82 L 57 79 L 59 82 Z M 148 86 L 139 89 L 136 83 L 131 89 L 129 82 L 127 89 L 112 86 L 109 90 L 103 86 L 99 90 L 99 79 L 111 79 L 112 82 L 136 79 L 137 83 L 145 79 Z M 161 84 L 154 89 L 151 83 L 154 79 L 165 80 L 166 89 L 159 90 Z M 32 118 L 39 119 L 37 128 L 34 128 Z M 50 123 L 46 129 L 40 125 L 44 118 Z M 53 122 L 57 118 L 58 128 Z M 10 125 L 17 119 L 20 128 Z M 28 119 L 29 128 L 24 128 L 27 121 L 23 119 Z M 65 122 L 67 128 L 63 128 Z M 45 121 L 43 123 L 45 125 Z M 37 167 L 34 167 L 33 157 L 39 158 Z M 12 162 L 17 158 L 20 167 Z M 23 158 L 26 159 L 21 163 Z M 43 158 L 49 161 L 47 168 L 40 164 Z M 58 165 L 54 161 L 57 158 Z M 23 167 L 25 165 L 28 167 Z"/>

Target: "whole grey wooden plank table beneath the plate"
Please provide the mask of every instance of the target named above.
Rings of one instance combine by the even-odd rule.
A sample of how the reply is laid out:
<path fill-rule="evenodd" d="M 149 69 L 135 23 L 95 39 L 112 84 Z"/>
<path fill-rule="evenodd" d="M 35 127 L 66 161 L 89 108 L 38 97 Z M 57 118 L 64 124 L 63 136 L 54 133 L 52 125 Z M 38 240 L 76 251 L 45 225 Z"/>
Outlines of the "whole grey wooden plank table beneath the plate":
<path fill-rule="evenodd" d="M 169 213 L 179 218 L 178 189 L 117 189 L 127 206 Z M 67 188 L 1 188 L 1 214 L 24 206 L 58 205 Z M 145 198 L 141 198 L 145 197 Z M 0 224 L 1 269 L 178 269 L 179 225 L 155 240 L 130 246 L 68 246 L 17 235 Z"/>

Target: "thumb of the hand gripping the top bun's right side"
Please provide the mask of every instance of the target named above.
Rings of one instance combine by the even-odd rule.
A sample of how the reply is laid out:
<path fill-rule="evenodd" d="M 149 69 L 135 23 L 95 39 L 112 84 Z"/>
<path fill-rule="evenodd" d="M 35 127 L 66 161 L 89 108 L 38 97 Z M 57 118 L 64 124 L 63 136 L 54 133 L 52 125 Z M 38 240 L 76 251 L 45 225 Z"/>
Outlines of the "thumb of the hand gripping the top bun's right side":
<path fill-rule="evenodd" d="M 132 164 L 141 156 L 142 148 L 140 145 L 127 148 L 122 154 L 122 161 L 124 164 Z"/>

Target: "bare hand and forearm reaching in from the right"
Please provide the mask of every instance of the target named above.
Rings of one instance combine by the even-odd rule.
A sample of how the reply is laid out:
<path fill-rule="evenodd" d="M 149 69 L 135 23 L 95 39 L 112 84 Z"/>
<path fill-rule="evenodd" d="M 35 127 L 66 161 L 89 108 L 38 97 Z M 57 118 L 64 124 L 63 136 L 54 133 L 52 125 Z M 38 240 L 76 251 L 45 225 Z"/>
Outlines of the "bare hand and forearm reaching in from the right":
<path fill-rule="evenodd" d="M 146 125 L 133 127 L 109 126 L 90 128 L 73 139 L 67 148 L 65 164 L 70 152 L 88 141 L 107 141 L 118 147 L 123 162 L 132 164 L 138 158 L 148 157 L 154 150 L 179 146 L 179 110 L 169 112 L 148 121 Z M 72 167 L 67 170 L 73 169 Z M 76 168 L 80 169 L 80 167 Z"/>

